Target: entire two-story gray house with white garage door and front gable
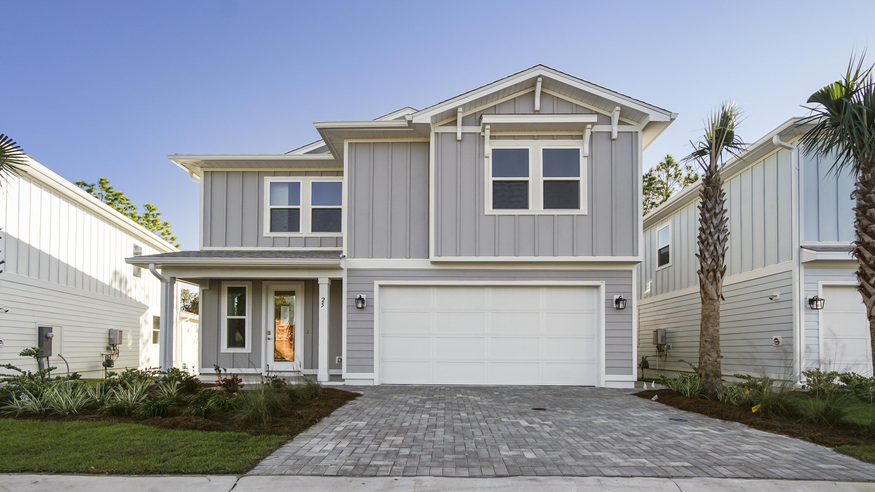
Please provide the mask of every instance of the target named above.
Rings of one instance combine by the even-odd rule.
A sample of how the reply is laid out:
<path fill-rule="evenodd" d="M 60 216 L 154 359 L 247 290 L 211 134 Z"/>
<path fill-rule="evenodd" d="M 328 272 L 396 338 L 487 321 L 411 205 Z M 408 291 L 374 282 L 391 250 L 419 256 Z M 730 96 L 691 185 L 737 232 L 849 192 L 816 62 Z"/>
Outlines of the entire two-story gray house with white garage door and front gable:
<path fill-rule="evenodd" d="M 128 261 L 168 299 L 201 286 L 201 371 L 633 387 L 641 152 L 675 118 L 535 66 L 316 122 L 288 154 L 172 155 L 200 183 L 200 251 Z"/>

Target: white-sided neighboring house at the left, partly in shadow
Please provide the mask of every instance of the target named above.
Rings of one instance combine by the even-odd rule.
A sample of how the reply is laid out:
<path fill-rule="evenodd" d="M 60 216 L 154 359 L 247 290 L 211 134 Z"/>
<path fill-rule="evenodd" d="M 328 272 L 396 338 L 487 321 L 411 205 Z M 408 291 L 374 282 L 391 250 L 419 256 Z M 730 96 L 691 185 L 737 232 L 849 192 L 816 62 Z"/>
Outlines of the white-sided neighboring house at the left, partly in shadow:
<path fill-rule="evenodd" d="M 114 370 L 158 365 L 160 282 L 124 258 L 177 248 L 36 161 L 22 170 L 0 188 L 0 361 L 34 370 L 18 352 L 48 327 L 55 375 L 69 364 L 100 377 L 109 329 L 123 330 Z M 192 316 L 196 323 L 179 315 L 178 354 L 192 359 L 180 366 L 196 368 L 197 354 L 185 349 L 197 346 L 196 330 L 186 329 Z"/>

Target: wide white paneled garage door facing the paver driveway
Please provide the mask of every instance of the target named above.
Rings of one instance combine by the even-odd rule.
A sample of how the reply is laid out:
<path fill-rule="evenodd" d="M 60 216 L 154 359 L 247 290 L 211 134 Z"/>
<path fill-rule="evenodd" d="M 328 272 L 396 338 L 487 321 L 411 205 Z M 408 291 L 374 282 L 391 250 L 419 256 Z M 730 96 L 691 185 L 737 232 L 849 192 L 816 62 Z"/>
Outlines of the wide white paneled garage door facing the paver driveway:
<path fill-rule="evenodd" d="M 381 382 L 596 385 L 597 295 L 591 287 L 381 287 Z"/>

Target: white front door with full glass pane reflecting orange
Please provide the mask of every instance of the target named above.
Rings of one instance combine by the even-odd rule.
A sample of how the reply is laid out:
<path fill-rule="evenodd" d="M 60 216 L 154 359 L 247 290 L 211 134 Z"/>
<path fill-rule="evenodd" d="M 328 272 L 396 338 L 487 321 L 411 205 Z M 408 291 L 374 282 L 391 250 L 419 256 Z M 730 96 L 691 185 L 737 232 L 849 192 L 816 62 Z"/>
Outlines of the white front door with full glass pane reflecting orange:
<path fill-rule="evenodd" d="M 264 357 L 270 371 L 300 371 L 304 283 L 270 283 L 264 295 Z"/>

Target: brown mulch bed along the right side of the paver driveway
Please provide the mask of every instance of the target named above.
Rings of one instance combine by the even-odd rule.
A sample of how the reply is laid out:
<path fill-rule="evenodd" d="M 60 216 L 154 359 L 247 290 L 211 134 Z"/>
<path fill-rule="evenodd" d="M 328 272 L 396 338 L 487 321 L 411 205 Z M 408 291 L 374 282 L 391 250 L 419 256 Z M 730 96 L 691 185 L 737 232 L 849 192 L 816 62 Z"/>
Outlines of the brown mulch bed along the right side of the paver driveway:
<path fill-rule="evenodd" d="M 737 405 L 726 405 L 711 399 L 687 398 L 671 390 L 645 390 L 635 393 L 641 398 L 653 398 L 659 395 L 657 402 L 674 406 L 688 412 L 701 413 L 714 419 L 739 422 L 760 431 L 783 434 L 796 439 L 808 440 L 826 447 L 840 446 L 872 446 L 875 445 L 875 433 L 865 426 L 842 424 L 837 426 L 818 426 L 806 419 L 783 419 L 762 416 L 751 412 L 750 408 Z"/>

